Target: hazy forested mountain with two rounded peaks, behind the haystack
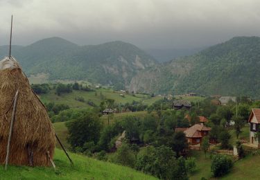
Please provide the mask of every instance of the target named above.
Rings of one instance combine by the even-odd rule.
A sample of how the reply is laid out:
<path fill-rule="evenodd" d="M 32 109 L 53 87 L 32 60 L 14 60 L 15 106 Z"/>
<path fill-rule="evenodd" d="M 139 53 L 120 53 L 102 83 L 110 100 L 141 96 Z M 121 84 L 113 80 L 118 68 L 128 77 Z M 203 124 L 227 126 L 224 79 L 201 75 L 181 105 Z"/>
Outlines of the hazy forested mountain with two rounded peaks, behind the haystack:
<path fill-rule="evenodd" d="M 8 46 L 1 46 L 0 57 L 7 54 Z M 89 80 L 118 89 L 127 87 L 140 70 L 157 64 L 153 57 L 125 42 L 78 46 L 59 37 L 13 46 L 12 55 L 27 75 L 48 73 L 51 80 Z"/>

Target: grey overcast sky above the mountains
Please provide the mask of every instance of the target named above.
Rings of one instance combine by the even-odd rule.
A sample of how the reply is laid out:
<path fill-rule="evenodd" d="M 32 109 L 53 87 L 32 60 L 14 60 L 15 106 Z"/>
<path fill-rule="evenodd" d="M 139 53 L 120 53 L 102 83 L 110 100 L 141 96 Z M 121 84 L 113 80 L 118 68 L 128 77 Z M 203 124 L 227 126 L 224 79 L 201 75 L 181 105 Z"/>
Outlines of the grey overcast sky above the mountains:
<path fill-rule="evenodd" d="M 141 48 L 197 48 L 260 36 L 259 0 L 0 0 L 0 45 L 46 37 L 76 44 L 114 40 Z"/>

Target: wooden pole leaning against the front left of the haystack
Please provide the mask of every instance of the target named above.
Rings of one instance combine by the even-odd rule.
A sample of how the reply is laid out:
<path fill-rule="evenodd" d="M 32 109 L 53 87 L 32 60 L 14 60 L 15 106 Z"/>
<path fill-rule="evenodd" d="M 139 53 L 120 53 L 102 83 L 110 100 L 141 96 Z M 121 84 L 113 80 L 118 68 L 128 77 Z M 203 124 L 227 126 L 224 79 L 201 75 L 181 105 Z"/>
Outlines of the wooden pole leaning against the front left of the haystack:
<path fill-rule="evenodd" d="M 16 93 L 15 93 L 14 107 L 13 107 L 13 109 L 12 109 L 12 119 L 11 119 L 10 130 L 9 130 L 7 150 L 6 150 L 6 170 L 7 170 L 8 161 L 9 161 L 10 142 L 11 142 L 11 138 L 12 138 L 12 129 L 13 129 L 14 123 L 15 123 L 15 113 L 16 113 L 16 107 L 17 107 L 18 94 L 19 94 L 19 91 L 16 91 Z"/>

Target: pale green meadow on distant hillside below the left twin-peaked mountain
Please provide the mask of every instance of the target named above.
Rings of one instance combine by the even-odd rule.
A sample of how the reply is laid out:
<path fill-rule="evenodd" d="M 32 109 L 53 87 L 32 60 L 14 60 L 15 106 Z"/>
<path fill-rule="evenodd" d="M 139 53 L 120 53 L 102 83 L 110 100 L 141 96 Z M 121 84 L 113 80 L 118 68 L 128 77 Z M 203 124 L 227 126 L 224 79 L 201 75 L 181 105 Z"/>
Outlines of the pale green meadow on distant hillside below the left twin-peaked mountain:
<path fill-rule="evenodd" d="M 95 91 L 72 91 L 72 93 L 62 93 L 61 96 L 57 96 L 55 94 L 55 90 L 51 90 L 49 93 L 42 94 L 40 99 L 42 102 L 55 102 L 58 104 L 66 104 L 69 105 L 71 108 L 83 108 L 83 107 L 90 107 L 87 105 L 87 100 L 92 100 L 95 105 L 100 105 L 101 101 L 105 98 L 114 99 L 116 103 L 125 104 L 127 102 L 132 103 L 133 100 L 135 101 L 142 101 L 144 99 L 149 98 L 147 95 L 143 94 L 136 94 L 132 96 L 132 94 L 123 94 L 112 91 L 112 89 L 97 89 Z M 80 102 L 76 100 L 76 97 L 83 97 L 86 102 Z M 153 100 L 150 101 L 153 103 Z M 150 105 L 150 104 L 149 104 Z"/>

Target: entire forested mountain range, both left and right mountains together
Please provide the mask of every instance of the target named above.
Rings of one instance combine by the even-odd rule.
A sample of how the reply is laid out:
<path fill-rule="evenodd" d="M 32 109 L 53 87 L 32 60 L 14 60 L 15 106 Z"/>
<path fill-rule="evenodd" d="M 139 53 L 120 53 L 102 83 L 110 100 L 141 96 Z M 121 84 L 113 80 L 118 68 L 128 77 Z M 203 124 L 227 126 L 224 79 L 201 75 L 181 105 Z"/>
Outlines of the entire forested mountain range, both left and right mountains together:
<path fill-rule="evenodd" d="M 8 46 L 0 46 L 0 57 Z M 26 74 L 89 80 L 146 93 L 201 93 L 260 98 L 260 37 L 234 37 L 200 53 L 158 64 L 125 42 L 78 46 L 59 37 L 12 46 Z"/>

